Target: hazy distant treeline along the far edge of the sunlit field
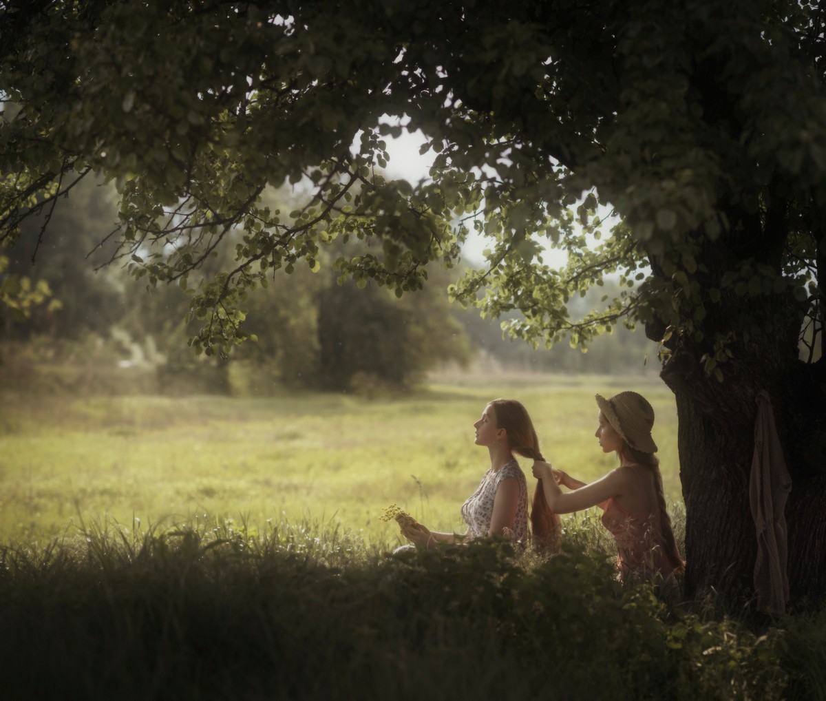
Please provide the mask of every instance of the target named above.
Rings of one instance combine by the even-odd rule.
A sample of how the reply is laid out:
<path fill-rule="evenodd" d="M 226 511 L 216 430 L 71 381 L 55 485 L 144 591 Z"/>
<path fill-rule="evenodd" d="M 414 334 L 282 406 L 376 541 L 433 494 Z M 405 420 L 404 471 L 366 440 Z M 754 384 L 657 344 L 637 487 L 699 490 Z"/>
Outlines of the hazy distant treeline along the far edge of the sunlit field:
<path fill-rule="evenodd" d="M 403 388 L 446 364 L 482 362 L 502 370 L 612 373 L 656 363 L 656 344 L 643 331 L 618 328 L 587 353 L 563 342 L 534 350 L 502 337 L 499 320 L 451 304 L 445 289 L 460 271 L 433 266 L 429 283 L 401 299 L 387 289 L 352 281 L 340 285 L 333 261 L 339 244 L 322 251 L 321 269 L 279 270 L 267 289 L 247 300 L 247 329 L 257 337 L 230 358 L 197 356 L 187 344 L 202 321 L 187 322 L 188 295 L 178 284 L 152 287 L 127 270 L 129 259 L 102 242 L 116 211 L 107 186 L 81 186 L 45 220 L 26 222 L 15 248 L 2 253 L 9 275 L 48 284 L 49 303 L 26 318 L 0 305 L 0 342 L 26 360 L 139 367 L 157 374 L 163 389 L 230 391 L 230 368 L 259 391 L 273 384 L 311 389 L 374 391 Z M 276 203 L 273 203 L 276 204 Z M 348 246 L 353 246 L 351 241 Z M 365 248 L 367 251 L 367 248 Z M 203 279 L 233 260 L 209 258 Z M 108 265 L 107 265 L 108 264 Z M 198 280 L 188 280 L 188 288 Z M 612 293 L 613 290 L 603 289 Z M 586 312 L 589 300 L 576 300 Z M 575 305 L 572 303 L 572 307 Z M 8 351 L 0 360 L 11 362 Z"/>

